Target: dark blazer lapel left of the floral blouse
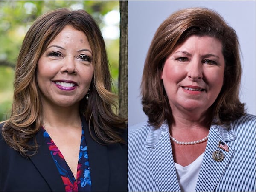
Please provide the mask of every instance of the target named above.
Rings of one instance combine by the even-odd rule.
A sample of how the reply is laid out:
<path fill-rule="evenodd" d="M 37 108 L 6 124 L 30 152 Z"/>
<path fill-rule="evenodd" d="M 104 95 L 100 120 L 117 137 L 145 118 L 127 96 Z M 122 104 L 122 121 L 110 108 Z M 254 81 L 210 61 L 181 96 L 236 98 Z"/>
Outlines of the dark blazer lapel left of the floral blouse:
<path fill-rule="evenodd" d="M 65 191 L 58 169 L 52 160 L 47 144 L 44 142 L 42 129 L 37 133 L 36 141 L 39 146 L 38 152 L 30 160 L 41 173 L 52 191 Z"/>

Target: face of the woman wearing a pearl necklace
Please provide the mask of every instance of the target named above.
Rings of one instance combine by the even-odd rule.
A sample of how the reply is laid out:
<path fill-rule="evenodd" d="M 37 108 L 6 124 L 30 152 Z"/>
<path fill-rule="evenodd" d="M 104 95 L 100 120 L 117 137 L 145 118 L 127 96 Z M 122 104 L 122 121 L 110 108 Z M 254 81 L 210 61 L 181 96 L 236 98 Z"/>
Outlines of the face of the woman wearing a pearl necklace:
<path fill-rule="evenodd" d="M 191 36 L 164 63 L 161 79 L 172 112 L 204 113 L 216 100 L 224 79 L 222 43 Z"/>

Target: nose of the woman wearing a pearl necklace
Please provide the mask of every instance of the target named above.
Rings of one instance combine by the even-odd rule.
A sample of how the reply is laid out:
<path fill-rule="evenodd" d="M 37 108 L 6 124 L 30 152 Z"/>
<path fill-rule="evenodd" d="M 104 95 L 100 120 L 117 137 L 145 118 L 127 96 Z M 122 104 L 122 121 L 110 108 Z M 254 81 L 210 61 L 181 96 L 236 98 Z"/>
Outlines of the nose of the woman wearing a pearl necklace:
<path fill-rule="evenodd" d="M 203 78 L 203 65 L 201 61 L 196 60 L 189 63 L 187 66 L 188 73 L 187 76 L 192 81 L 197 81 L 198 79 Z"/>

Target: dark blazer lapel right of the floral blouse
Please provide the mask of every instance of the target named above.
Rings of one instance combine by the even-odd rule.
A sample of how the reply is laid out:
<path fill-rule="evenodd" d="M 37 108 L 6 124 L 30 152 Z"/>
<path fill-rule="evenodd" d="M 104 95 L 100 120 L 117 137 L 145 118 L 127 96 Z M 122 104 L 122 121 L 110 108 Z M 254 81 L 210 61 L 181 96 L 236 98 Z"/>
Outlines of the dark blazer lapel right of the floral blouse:
<path fill-rule="evenodd" d="M 108 149 L 105 145 L 101 145 L 93 140 L 90 136 L 89 127 L 84 117 L 81 117 L 81 120 L 87 144 L 92 191 L 108 191 L 110 174 Z"/>

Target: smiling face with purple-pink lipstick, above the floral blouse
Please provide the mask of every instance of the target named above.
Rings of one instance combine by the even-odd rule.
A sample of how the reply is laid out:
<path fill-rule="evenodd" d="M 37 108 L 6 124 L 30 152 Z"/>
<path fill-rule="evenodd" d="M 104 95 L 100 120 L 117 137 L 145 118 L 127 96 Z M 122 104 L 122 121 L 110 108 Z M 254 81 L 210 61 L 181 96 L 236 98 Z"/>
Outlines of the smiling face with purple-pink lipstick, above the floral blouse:
<path fill-rule="evenodd" d="M 67 25 L 38 61 L 37 82 L 42 104 L 79 104 L 93 77 L 92 51 L 86 35 Z"/>

